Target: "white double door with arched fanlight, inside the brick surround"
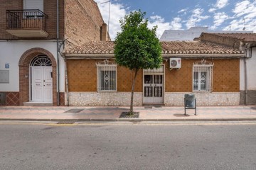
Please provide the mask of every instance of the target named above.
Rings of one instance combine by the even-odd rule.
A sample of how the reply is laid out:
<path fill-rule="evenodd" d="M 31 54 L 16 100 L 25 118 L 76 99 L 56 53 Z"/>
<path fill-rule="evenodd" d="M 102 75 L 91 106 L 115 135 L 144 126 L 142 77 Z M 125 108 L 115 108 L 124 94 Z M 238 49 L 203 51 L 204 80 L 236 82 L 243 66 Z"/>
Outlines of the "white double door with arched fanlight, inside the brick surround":
<path fill-rule="evenodd" d="M 29 67 L 29 101 L 53 103 L 53 67 L 46 55 L 37 55 Z"/>

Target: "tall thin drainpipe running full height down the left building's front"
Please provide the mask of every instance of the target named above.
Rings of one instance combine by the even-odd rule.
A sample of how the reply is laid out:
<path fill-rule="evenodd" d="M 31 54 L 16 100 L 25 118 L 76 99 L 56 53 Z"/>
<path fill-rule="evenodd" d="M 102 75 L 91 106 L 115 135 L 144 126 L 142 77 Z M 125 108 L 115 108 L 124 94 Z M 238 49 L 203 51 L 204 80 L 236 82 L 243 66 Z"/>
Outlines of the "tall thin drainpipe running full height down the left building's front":
<path fill-rule="evenodd" d="M 60 106 L 60 63 L 59 63 L 59 1 L 57 0 L 57 106 Z"/>

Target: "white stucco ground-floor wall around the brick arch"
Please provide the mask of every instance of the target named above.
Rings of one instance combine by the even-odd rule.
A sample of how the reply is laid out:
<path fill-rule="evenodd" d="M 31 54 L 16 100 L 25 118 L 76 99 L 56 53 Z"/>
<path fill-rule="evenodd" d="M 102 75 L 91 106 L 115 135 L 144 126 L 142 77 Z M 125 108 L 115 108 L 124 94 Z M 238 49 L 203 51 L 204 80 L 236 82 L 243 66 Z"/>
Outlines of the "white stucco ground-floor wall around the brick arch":
<path fill-rule="evenodd" d="M 41 47 L 48 50 L 57 58 L 57 47 L 55 40 L 0 40 L 0 70 L 9 70 L 9 84 L 0 83 L 0 91 L 19 91 L 18 62 L 26 50 Z M 60 57 L 60 92 L 65 91 L 65 67 Z M 5 64 L 9 63 L 9 69 Z"/>

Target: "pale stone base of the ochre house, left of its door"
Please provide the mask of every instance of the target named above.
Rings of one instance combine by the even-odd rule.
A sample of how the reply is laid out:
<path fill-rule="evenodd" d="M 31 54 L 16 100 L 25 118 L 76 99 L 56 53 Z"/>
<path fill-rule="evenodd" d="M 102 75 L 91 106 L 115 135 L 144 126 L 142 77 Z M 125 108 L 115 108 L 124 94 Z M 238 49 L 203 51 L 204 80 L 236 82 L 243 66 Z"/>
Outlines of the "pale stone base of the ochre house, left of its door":
<path fill-rule="evenodd" d="M 129 106 L 131 101 L 131 92 L 72 92 L 68 96 L 69 106 Z M 134 93 L 134 106 L 142 106 L 142 93 Z"/>

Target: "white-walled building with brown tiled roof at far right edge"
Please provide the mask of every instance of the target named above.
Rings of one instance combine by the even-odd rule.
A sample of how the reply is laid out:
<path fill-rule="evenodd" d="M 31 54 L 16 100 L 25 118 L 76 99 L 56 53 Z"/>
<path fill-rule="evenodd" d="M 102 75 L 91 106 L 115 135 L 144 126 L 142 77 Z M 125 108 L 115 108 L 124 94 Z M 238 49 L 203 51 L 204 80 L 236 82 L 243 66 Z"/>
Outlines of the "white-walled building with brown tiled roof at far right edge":
<path fill-rule="evenodd" d="M 240 104 L 256 104 L 256 33 L 202 33 L 199 40 L 243 50 L 240 59 Z M 224 74 L 224 73 L 223 73 Z"/>

